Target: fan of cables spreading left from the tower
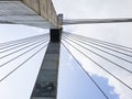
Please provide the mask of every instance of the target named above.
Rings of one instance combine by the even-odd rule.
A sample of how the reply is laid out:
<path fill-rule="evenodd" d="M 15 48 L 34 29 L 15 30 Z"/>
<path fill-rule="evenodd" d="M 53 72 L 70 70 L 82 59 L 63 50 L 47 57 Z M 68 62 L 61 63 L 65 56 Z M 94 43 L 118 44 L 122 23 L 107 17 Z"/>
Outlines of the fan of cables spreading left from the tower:
<path fill-rule="evenodd" d="M 11 69 L 9 73 L 7 73 L 2 78 L 0 78 L 0 82 L 3 81 L 6 78 L 8 78 L 10 75 L 12 75 L 20 67 L 22 67 L 33 56 L 35 56 L 37 53 L 44 50 L 48 44 L 48 40 L 50 40 L 48 35 L 50 34 L 47 33 L 47 34 L 35 35 L 26 38 L 1 43 L 0 61 L 2 62 L 2 59 L 6 59 L 6 62 L 0 64 L 0 67 L 4 67 L 9 63 L 14 62 L 15 59 L 26 55 L 30 52 L 33 53 L 29 57 L 25 57 L 25 59 L 22 63 L 20 63 L 16 67 Z M 18 55 L 13 56 L 16 53 Z M 8 58 L 9 56 L 11 56 L 12 58 Z"/>

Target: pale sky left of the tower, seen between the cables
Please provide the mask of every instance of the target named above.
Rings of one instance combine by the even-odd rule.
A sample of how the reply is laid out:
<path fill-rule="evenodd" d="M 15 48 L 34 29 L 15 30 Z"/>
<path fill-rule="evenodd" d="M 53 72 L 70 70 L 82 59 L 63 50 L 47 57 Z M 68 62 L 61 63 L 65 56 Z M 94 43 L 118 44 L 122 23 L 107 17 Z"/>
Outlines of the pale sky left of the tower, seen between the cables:
<path fill-rule="evenodd" d="M 42 30 L 24 25 L 0 25 L 0 28 L 1 28 L 0 29 L 1 43 L 18 38 L 24 38 L 28 36 L 44 34 L 48 32 L 48 30 Z M 34 81 L 45 53 L 45 48 L 0 84 L 0 96 L 2 97 L 2 99 L 30 99 Z M 0 77 L 2 78 L 7 73 L 13 69 L 15 66 L 18 66 L 20 63 L 22 63 L 26 57 L 32 55 L 34 52 L 35 51 L 25 54 L 24 56 L 14 61 L 13 63 L 10 63 L 1 67 Z M 16 56 L 18 54 L 12 55 L 12 57 Z M 11 57 L 3 58 L 0 62 L 0 64 L 9 61 L 9 58 Z"/>

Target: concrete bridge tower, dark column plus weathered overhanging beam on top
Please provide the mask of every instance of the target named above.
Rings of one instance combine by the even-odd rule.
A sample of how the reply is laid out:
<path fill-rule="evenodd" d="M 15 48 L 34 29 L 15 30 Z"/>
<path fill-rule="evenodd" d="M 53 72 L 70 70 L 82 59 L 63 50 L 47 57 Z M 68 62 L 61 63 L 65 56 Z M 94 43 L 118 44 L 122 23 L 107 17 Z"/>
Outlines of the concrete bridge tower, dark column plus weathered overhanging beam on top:
<path fill-rule="evenodd" d="M 52 0 L 0 0 L 0 23 L 50 29 L 51 40 L 31 99 L 56 99 L 61 19 Z"/>

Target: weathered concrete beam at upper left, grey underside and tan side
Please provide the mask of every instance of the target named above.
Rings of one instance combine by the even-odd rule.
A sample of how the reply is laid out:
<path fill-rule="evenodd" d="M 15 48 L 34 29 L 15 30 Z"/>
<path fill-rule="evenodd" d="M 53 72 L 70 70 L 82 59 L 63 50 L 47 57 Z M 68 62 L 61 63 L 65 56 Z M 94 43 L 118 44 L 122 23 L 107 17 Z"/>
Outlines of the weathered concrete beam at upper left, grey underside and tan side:
<path fill-rule="evenodd" d="M 61 28 L 52 0 L 0 0 L 0 23 Z"/>

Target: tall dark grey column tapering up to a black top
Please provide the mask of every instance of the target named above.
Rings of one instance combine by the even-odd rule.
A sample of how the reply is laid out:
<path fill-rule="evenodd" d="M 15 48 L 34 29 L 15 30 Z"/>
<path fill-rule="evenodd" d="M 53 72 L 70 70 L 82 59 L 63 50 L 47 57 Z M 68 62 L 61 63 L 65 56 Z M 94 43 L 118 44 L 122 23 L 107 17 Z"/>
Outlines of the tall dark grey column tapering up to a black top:
<path fill-rule="evenodd" d="M 51 30 L 47 46 L 31 99 L 56 99 L 62 30 Z"/>

